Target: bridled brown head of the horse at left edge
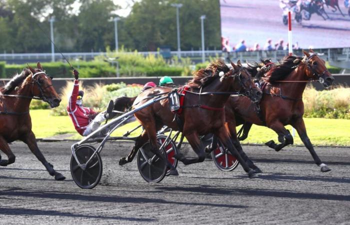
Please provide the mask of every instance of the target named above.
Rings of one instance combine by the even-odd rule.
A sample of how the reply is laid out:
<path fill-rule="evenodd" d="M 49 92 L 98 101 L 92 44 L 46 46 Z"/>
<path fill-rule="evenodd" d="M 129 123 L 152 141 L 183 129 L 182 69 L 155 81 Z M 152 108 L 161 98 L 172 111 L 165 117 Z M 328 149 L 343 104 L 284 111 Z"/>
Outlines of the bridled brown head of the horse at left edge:
<path fill-rule="evenodd" d="M 31 71 L 31 76 L 28 78 L 32 85 L 33 96 L 38 96 L 41 100 L 47 102 L 51 108 L 57 107 L 61 99 L 56 90 L 52 86 L 52 76 L 48 76 L 43 70 L 40 62 L 36 65 L 37 68 L 32 68 L 28 65 Z"/>

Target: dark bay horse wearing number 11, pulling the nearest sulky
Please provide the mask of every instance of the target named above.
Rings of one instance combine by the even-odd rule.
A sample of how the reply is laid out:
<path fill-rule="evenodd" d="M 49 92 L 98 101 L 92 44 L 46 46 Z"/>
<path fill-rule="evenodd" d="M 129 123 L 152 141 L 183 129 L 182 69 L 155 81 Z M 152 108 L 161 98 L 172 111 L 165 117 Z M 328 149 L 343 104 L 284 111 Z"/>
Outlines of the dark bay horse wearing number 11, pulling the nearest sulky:
<path fill-rule="evenodd" d="M 165 98 L 151 104 L 134 113 L 136 119 L 144 127 L 143 132 L 137 137 L 134 147 L 128 156 L 122 157 L 119 164 L 131 162 L 137 150 L 146 142 L 150 141 L 151 151 L 166 161 L 170 168 L 170 175 L 178 175 L 176 168 L 160 153 L 156 142 L 156 131 L 163 125 L 180 130 L 187 138 L 197 157 L 186 158 L 181 153 L 174 155 L 176 159 L 183 164 L 192 164 L 202 162 L 205 159 L 204 146 L 199 139 L 199 135 L 214 133 L 221 142 L 227 146 L 233 155 L 236 155 L 241 162 L 243 169 L 250 178 L 257 177 L 255 170 L 248 167 L 245 161 L 238 154 L 236 148 L 232 145 L 228 132 L 224 127 L 225 114 L 224 104 L 230 94 L 235 91 L 244 92 L 254 102 L 261 98 L 261 91 L 251 80 L 250 74 L 246 68 L 238 66 L 231 62 L 232 68 L 229 68 L 222 60 L 211 62 L 205 69 L 195 72 L 194 77 L 186 87 L 180 87 L 185 90 L 184 105 L 182 112 L 178 115 L 181 125 L 176 122 L 174 113 L 169 109 L 169 100 Z M 172 90 L 168 87 L 153 87 L 141 92 L 133 103 L 133 108 L 149 100 L 154 95 L 167 94 Z"/>

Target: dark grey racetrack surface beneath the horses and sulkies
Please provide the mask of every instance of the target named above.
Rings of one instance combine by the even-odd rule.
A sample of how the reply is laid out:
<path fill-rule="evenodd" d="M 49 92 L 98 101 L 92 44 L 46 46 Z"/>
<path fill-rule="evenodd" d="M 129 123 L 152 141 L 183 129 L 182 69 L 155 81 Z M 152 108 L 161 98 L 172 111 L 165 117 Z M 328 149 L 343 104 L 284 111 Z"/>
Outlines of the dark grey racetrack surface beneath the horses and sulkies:
<path fill-rule="evenodd" d="M 326 173 L 304 147 L 243 146 L 263 170 L 259 178 L 240 166 L 220 171 L 206 159 L 146 183 L 135 162 L 117 163 L 131 144 L 107 143 L 101 184 L 80 189 L 70 176 L 71 144 L 39 142 L 64 181 L 49 176 L 23 143 L 10 145 L 16 162 L 0 167 L 1 224 L 350 224 L 350 148 L 315 148 L 332 169 Z"/>

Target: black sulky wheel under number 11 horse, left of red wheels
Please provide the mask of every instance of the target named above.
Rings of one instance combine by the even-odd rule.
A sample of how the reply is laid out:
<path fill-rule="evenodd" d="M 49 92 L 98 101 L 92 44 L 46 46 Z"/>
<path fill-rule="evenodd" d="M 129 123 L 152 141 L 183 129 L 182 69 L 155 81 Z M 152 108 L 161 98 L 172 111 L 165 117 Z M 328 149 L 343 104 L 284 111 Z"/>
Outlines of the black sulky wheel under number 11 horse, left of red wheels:
<path fill-rule="evenodd" d="M 166 163 L 150 150 L 151 144 L 147 141 L 137 152 L 137 168 L 142 178 L 147 182 L 160 182 L 167 171 Z M 165 151 L 161 149 L 162 154 Z"/>

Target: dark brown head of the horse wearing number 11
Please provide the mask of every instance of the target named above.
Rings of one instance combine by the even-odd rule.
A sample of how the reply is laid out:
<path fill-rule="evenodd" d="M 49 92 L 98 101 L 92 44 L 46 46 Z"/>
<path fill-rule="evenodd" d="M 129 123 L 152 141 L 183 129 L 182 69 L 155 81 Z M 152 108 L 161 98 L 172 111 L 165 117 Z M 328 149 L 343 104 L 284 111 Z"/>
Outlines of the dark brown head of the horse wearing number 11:
<path fill-rule="evenodd" d="M 233 89 L 235 91 L 243 93 L 254 103 L 260 101 L 262 92 L 252 81 L 251 74 L 248 70 L 242 66 L 239 60 L 237 61 L 237 64 L 231 62 L 231 65 L 232 68 L 226 72 L 226 74 L 222 74 L 220 81 L 226 77 L 233 77 Z"/>

